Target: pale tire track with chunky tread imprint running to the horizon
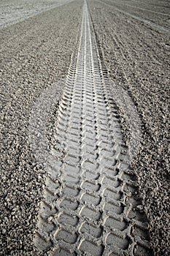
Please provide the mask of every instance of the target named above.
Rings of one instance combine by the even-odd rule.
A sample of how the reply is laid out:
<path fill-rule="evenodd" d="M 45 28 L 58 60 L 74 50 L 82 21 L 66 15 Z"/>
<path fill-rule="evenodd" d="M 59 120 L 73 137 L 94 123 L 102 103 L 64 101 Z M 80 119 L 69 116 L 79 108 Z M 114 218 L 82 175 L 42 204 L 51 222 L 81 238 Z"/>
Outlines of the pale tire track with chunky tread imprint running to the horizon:
<path fill-rule="evenodd" d="M 151 255 L 147 219 L 105 80 L 85 1 L 79 50 L 58 110 L 60 151 L 34 237 L 48 255 Z"/>

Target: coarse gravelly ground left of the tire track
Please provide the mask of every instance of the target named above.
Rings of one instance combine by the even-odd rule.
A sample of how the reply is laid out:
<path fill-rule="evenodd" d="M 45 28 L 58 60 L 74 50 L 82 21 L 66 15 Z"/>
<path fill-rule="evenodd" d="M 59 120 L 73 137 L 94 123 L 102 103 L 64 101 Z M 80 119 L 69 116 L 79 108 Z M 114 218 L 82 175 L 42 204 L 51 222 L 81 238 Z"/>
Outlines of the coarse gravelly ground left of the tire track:
<path fill-rule="evenodd" d="M 30 149 L 28 120 L 42 91 L 66 77 L 81 11 L 74 1 L 0 31 L 0 255 L 37 255 L 31 240 L 45 173 Z"/>

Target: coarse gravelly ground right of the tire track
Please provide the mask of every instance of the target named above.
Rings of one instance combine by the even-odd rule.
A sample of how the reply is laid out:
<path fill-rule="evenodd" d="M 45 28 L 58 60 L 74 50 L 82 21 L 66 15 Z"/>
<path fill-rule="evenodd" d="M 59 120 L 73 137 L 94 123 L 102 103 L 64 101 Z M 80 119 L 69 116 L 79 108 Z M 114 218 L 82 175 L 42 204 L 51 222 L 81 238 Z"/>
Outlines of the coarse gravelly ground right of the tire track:
<path fill-rule="evenodd" d="M 119 1 L 120 10 L 124 10 L 121 2 L 128 1 Z M 104 0 L 104 3 L 113 7 L 89 1 L 98 45 L 109 76 L 128 91 L 142 119 L 143 138 L 133 168 L 150 220 L 155 255 L 169 255 L 169 34 L 158 33 L 145 23 L 117 12 L 115 1 L 112 4 Z M 153 10 L 154 3 L 147 2 L 147 8 Z M 168 13 L 167 1 L 157 3 L 162 4 L 162 12 Z M 134 13 L 133 8 L 130 11 Z M 143 17 L 141 10 L 136 15 Z M 152 20 L 157 22 L 154 17 Z M 128 143 L 128 123 L 124 123 L 123 129 Z"/>

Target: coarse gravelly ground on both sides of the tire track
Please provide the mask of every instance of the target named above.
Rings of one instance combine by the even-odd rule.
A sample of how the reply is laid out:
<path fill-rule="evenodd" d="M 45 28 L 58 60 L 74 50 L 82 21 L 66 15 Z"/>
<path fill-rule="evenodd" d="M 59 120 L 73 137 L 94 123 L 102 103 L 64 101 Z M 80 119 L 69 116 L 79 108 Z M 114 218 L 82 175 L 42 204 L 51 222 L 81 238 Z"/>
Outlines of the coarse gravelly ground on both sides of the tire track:
<path fill-rule="evenodd" d="M 98 46 L 109 76 L 142 119 L 133 167 L 155 255 L 169 255 L 169 1 L 103 2 L 88 1 Z M 31 239 L 45 173 L 29 146 L 28 119 L 42 91 L 66 77 L 81 15 L 82 1 L 73 1 L 0 31 L 0 255 L 38 255 Z M 128 143 L 125 116 L 123 129 Z"/>

